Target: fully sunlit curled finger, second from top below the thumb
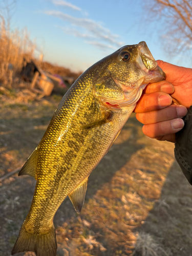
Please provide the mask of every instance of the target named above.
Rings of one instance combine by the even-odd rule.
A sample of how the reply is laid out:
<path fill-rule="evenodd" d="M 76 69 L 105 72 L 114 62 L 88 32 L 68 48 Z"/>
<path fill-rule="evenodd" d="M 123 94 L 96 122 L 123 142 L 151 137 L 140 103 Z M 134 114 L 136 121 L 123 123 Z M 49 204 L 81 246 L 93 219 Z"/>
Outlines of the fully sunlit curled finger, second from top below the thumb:
<path fill-rule="evenodd" d="M 150 94 L 142 94 L 138 100 L 135 113 L 145 113 L 149 111 L 155 111 L 165 108 L 172 103 L 172 97 L 170 95 L 156 92 Z"/>

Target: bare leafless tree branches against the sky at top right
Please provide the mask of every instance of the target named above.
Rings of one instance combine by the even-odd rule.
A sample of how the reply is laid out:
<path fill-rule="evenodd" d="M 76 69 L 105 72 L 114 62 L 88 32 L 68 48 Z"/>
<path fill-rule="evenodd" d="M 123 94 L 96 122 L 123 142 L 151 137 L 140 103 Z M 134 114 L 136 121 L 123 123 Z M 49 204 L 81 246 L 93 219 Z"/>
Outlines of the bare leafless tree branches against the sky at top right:
<path fill-rule="evenodd" d="M 150 0 L 143 5 L 147 16 L 162 24 L 168 51 L 192 50 L 192 0 Z"/>

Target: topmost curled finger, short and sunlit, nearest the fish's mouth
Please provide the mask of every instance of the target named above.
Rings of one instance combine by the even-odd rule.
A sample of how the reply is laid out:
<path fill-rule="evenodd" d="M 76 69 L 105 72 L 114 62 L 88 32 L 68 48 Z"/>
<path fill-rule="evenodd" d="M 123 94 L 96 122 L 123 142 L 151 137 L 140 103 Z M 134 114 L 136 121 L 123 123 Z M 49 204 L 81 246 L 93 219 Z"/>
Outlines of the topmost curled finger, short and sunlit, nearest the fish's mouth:
<path fill-rule="evenodd" d="M 160 82 L 149 83 L 148 86 L 143 90 L 144 93 L 163 92 L 171 94 L 174 92 L 174 86 L 170 82 L 163 80 Z"/>

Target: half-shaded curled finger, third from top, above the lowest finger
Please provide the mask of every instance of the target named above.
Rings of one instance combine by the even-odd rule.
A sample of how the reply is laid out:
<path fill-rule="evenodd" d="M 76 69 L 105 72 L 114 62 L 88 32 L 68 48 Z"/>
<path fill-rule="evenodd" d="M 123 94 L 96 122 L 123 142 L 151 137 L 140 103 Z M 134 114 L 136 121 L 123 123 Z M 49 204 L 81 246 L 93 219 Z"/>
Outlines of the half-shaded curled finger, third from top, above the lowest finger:
<path fill-rule="evenodd" d="M 187 114 L 187 109 L 182 105 L 170 105 L 167 108 L 147 113 L 137 113 L 136 118 L 143 124 L 158 123 L 175 118 L 182 118 Z"/>

